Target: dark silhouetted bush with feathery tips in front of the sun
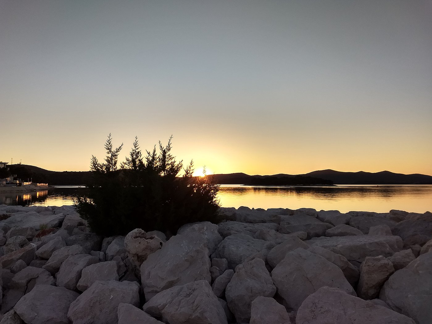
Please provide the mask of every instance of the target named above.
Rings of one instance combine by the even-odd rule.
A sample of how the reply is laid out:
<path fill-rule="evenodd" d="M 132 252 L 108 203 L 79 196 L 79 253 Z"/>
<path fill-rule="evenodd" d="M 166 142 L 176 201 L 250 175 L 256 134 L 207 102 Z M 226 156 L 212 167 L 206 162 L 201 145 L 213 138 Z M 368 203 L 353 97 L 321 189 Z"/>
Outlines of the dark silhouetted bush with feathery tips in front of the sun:
<path fill-rule="evenodd" d="M 193 177 L 193 162 L 183 169 L 171 154 L 172 137 L 165 146 L 159 142 L 159 150 L 146 150 L 144 157 L 135 137 L 118 169 L 122 146 L 114 148 L 108 135 L 105 162 L 92 156 L 88 194 L 75 200 L 76 211 L 95 233 L 126 235 L 141 228 L 175 234 L 189 222 L 218 222 L 219 185 L 209 176 Z"/>

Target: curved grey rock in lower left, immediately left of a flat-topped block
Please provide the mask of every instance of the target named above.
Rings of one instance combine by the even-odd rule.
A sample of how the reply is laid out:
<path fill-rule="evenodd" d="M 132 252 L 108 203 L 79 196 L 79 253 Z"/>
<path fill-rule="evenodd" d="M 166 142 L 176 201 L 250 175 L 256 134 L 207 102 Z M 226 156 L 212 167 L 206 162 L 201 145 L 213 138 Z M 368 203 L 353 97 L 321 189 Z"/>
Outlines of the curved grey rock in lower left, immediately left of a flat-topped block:
<path fill-rule="evenodd" d="M 90 264 L 98 262 L 98 257 L 93 257 L 89 254 L 70 255 L 61 264 L 60 270 L 57 273 L 57 286 L 76 290 L 76 285 L 81 278 L 83 269 Z"/>

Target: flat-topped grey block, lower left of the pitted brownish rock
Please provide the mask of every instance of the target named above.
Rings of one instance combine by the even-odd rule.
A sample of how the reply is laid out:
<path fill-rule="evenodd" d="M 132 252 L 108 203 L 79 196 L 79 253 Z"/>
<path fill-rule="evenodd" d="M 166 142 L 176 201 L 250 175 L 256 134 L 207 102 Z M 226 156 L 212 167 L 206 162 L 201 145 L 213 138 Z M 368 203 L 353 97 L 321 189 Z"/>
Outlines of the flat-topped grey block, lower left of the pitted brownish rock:
<path fill-rule="evenodd" d="M 79 291 L 86 291 L 96 281 L 118 280 L 117 263 L 106 261 L 90 264 L 81 273 L 81 278 L 76 284 Z"/>

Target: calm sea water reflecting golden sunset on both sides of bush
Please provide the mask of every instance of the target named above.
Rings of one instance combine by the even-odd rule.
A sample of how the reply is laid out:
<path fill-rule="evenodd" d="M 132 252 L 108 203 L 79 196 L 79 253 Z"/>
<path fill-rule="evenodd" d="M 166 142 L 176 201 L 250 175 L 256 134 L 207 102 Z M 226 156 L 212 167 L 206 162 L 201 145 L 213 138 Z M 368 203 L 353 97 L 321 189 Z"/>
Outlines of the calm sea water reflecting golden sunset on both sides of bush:
<path fill-rule="evenodd" d="M 0 204 L 22 206 L 72 205 L 86 188 L 54 187 L 32 193 L 0 193 Z M 424 213 L 432 211 L 431 185 L 339 185 L 336 187 L 259 187 L 222 185 L 218 194 L 223 207 L 315 208 L 316 210 L 374 211 L 391 209 Z"/>

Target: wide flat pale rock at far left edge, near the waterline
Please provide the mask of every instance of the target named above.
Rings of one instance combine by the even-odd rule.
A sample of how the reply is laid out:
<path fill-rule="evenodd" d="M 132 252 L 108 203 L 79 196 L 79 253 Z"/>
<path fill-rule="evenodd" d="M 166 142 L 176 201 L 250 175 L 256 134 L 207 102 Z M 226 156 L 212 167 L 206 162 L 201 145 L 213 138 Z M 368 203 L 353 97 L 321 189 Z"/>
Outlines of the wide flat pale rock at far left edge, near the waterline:
<path fill-rule="evenodd" d="M 10 227 L 32 227 L 39 230 L 41 224 L 46 224 L 48 228 L 60 227 L 65 215 L 60 213 L 58 215 L 42 215 L 35 212 L 17 213 L 10 216 L 8 219 L 3 220 L 2 224 Z"/>

